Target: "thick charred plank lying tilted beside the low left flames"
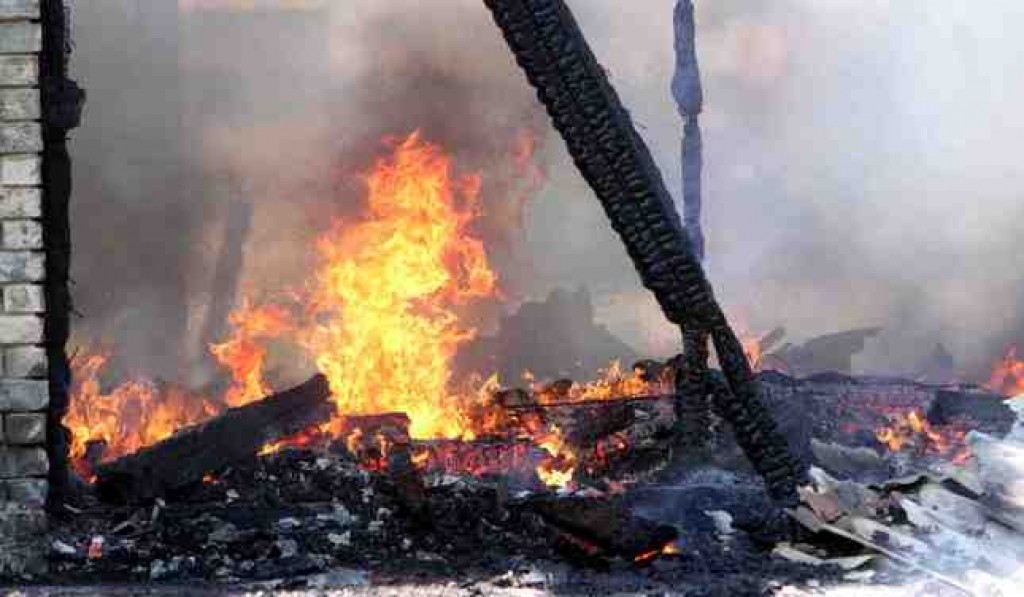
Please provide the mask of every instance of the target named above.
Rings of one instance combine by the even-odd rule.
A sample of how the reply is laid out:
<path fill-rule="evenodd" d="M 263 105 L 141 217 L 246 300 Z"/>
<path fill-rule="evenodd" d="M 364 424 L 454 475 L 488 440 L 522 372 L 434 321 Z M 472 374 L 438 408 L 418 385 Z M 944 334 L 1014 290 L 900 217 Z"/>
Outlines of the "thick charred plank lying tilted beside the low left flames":
<path fill-rule="evenodd" d="M 263 445 L 328 421 L 334 413 L 327 378 L 316 375 L 261 400 L 230 409 L 135 454 L 96 468 L 96 491 L 113 503 L 138 503 L 199 482 L 252 458 Z"/>

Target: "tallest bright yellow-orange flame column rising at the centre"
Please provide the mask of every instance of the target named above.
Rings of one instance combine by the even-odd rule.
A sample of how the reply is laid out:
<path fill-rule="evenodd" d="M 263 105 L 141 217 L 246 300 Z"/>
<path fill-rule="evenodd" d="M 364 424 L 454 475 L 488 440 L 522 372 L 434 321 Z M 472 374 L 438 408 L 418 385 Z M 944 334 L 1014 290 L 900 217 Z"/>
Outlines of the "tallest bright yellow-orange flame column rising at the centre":
<path fill-rule="evenodd" d="M 475 331 L 457 309 L 495 296 L 497 278 L 470 224 L 478 176 L 413 134 L 367 177 L 369 210 L 317 243 L 322 268 L 304 344 L 344 415 L 402 412 L 413 437 L 472 437 L 450 392 L 452 360 Z"/>

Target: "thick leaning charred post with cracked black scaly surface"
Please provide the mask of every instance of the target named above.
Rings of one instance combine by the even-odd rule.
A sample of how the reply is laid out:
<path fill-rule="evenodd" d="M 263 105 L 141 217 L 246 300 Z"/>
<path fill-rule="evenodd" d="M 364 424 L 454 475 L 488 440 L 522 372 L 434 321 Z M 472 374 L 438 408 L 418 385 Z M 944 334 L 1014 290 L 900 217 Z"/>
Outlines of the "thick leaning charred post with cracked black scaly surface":
<path fill-rule="evenodd" d="M 805 476 L 715 300 L 672 197 L 629 113 L 562 0 L 484 0 L 577 167 L 669 321 L 710 335 L 729 389 L 718 409 L 781 505 Z"/>

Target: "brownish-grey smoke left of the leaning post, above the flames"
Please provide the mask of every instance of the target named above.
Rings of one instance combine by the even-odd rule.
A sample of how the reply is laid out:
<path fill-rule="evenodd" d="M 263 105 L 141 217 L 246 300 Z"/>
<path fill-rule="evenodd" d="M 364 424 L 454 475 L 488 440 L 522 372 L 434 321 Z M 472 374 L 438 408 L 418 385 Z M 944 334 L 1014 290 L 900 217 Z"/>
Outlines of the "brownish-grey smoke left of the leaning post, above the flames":
<path fill-rule="evenodd" d="M 546 121 L 481 4 L 176 1 L 75 7 L 77 343 L 112 346 L 118 375 L 205 383 L 230 307 L 308 282 L 312 239 L 415 130 L 482 174 L 479 232 L 524 295 L 524 147 Z"/>

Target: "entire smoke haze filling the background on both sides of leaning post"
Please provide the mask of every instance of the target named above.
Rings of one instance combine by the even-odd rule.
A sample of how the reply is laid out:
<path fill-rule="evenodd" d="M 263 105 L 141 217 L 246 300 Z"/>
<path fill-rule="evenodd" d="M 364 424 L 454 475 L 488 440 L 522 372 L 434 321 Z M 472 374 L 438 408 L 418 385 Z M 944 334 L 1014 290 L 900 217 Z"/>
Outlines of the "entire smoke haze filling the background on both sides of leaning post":
<path fill-rule="evenodd" d="M 673 2 L 569 4 L 680 188 Z M 885 327 L 860 367 L 904 374 L 939 341 L 974 376 L 1024 342 L 1019 4 L 698 3 L 708 265 L 740 327 Z M 380 138 L 419 128 L 482 171 L 512 299 L 587 286 L 638 350 L 677 349 L 479 0 L 323 6 L 75 4 L 79 342 L 116 346 L 123 373 L 203 381 L 218 289 L 301 284 L 325 218 L 358 209 L 352 175 Z M 550 177 L 517 232 L 510 156 L 530 130 Z"/>

